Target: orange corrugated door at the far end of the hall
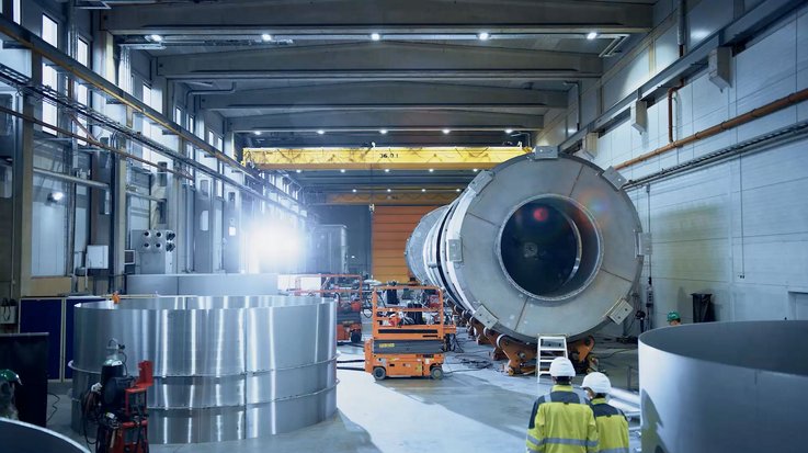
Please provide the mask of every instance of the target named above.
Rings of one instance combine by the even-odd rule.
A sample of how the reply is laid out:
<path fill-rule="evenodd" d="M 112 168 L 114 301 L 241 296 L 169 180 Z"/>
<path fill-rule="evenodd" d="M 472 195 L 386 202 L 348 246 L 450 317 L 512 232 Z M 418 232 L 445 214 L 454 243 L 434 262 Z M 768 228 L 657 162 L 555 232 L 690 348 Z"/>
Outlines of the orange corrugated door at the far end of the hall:
<path fill-rule="evenodd" d="M 373 278 L 407 282 L 405 246 L 416 225 L 435 206 L 376 206 L 373 213 Z"/>

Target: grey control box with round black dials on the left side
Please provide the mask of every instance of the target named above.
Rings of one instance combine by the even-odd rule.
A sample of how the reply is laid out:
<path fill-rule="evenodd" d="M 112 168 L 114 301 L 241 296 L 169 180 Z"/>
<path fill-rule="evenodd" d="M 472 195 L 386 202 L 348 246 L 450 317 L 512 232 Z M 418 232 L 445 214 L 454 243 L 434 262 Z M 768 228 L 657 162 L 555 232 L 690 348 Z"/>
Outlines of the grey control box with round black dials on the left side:
<path fill-rule="evenodd" d="M 171 229 L 135 229 L 130 244 L 135 250 L 135 269 L 139 274 L 173 272 L 177 234 Z"/>

